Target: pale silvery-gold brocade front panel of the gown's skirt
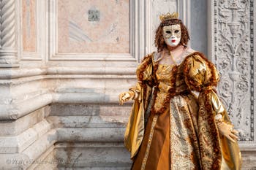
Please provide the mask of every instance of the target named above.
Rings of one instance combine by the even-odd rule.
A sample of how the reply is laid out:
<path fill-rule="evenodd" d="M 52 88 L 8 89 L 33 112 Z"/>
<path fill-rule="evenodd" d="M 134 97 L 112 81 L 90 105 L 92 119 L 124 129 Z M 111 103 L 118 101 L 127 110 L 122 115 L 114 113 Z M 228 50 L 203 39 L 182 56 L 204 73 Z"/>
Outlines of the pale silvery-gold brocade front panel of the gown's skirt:
<path fill-rule="evenodd" d="M 170 100 L 170 129 L 170 169 L 200 169 L 197 134 L 182 96 Z"/>

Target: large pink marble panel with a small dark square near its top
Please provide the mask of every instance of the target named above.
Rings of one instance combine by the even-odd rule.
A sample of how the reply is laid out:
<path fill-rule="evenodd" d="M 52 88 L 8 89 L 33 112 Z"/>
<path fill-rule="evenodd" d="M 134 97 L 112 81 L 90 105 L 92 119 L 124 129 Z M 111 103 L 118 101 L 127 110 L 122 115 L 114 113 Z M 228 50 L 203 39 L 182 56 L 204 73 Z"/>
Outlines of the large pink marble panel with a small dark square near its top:
<path fill-rule="evenodd" d="M 59 0 L 59 53 L 129 53 L 129 0 Z"/>

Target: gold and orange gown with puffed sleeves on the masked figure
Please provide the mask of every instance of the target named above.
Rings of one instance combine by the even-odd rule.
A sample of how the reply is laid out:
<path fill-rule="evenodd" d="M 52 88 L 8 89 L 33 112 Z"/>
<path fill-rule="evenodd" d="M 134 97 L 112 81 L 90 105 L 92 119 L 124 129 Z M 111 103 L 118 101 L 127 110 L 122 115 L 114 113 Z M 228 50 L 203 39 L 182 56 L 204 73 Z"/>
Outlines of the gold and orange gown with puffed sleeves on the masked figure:
<path fill-rule="evenodd" d="M 130 88 L 138 93 L 124 136 L 132 170 L 241 169 L 238 143 L 219 135 L 214 120 L 222 114 L 230 123 L 214 90 L 214 64 L 190 49 L 178 65 L 161 65 L 159 59 L 147 55 Z"/>

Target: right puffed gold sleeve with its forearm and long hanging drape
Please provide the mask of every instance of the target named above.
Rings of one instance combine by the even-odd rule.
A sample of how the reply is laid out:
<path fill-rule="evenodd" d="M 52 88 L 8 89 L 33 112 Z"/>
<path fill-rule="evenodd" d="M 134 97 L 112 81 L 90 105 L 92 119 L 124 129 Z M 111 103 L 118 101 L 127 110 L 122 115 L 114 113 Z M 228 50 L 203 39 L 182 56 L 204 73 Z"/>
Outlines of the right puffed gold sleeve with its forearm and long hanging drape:
<path fill-rule="evenodd" d="M 197 134 L 203 169 L 221 169 L 225 162 L 233 163 L 233 168 L 239 169 L 241 163 L 237 142 L 232 143 L 219 136 L 215 123 L 214 117 L 218 114 L 224 117 L 226 123 L 230 123 L 225 107 L 215 90 L 219 82 L 219 72 L 216 67 L 203 54 L 193 53 L 184 61 L 184 79 L 189 90 L 199 92 Z"/>

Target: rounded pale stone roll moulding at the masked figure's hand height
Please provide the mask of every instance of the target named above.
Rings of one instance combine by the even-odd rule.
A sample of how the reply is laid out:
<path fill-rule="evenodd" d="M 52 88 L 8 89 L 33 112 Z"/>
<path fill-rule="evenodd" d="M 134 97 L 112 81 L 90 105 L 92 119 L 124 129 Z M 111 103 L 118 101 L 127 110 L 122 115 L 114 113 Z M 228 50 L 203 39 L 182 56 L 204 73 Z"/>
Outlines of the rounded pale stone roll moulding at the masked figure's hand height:
<path fill-rule="evenodd" d="M 73 89 L 75 90 L 75 89 Z M 78 89 L 79 91 L 80 89 Z M 103 91 L 102 91 L 103 92 Z M 104 93 L 104 92 L 103 92 Z M 33 102 L 33 105 L 31 103 Z M 105 93 L 102 95 L 90 92 L 62 92 L 45 93 L 40 96 L 29 98 L 26 101 L 15 104 L 0 104 L 1 120 L 18 120 L 48 104 L 118 104 L 118 93 Z"/>

